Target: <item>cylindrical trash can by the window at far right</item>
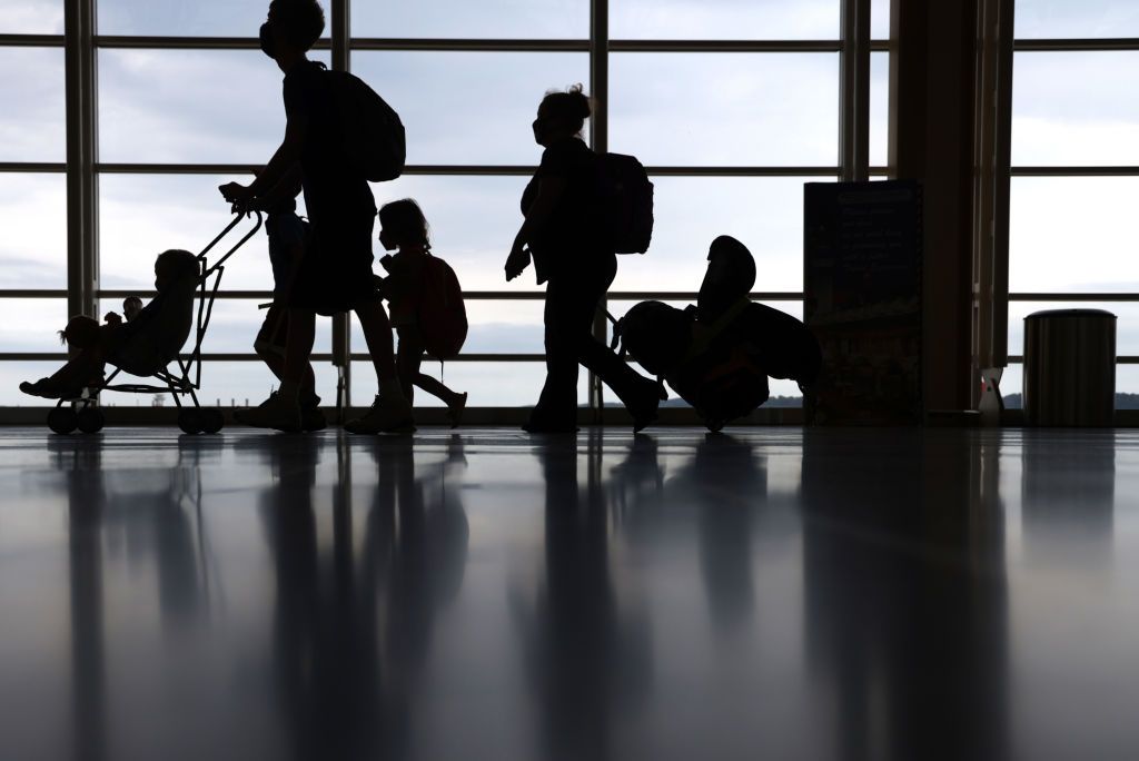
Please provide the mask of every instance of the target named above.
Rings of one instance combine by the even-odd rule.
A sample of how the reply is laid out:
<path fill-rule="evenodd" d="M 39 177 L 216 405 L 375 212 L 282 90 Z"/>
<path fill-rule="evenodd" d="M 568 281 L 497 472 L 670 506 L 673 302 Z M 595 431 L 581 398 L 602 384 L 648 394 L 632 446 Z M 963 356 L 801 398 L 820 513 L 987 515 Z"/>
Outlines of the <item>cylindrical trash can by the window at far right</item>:
<path fill-rule="evenodd" d="M 1109 426 L 1115 415 L 1115 316 L 1056 309 L 1024 318 L 1029 425 Z"/>

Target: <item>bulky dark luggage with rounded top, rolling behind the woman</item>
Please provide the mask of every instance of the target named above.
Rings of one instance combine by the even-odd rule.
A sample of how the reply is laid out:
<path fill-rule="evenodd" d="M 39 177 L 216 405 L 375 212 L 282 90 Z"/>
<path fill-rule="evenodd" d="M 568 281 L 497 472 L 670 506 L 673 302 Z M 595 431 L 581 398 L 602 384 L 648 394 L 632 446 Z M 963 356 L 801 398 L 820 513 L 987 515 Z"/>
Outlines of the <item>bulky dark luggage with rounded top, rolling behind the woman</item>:
<path fill-rule="evenodd" d="M 695 306 L 641 302 L 617 325 L 625 351 L 719 431 L 768 400 L 768 377 L 806 388 L 822 363 L 819 343 L 790 314 L 756 304 L 755 260 L 739 240 L 720 236 Z"/>

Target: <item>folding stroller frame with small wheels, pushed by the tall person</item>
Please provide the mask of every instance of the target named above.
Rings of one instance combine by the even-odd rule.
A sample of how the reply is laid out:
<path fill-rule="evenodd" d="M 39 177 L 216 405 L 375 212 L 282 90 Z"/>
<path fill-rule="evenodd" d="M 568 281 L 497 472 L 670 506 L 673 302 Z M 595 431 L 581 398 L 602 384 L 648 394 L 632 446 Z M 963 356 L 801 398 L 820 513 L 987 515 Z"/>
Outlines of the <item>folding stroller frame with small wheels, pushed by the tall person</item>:
<path fill-rule="evenodd" d="M 179 408 L 178 427 L 185 433 L 218 433 L 222 429 L 226 418 L 221 410 L 202 407 L 198 403 L 197 393 L 195 393 L 202 388 L 202 341 L 210 327 L 214 298 L 218 295 L 219 286 L 221 286 L 222 273 L 226 271 L 226 261 L 261 229 L 261 213 L 255 212 L 253 228 L 218 261 L 210 264 L 206 255 L 229 236 L 241 222 L 241 219 L 243 215 L 236 215 L 226 226 L 226 229 L 197 255 L 199 275 L 194 289 L 179 293 L 162 304 L 161 310 L 163 312 L 169 310 L 170 316 L 174 318 L 170 321 L 181 324 L 185 327 L 169 335 L 159 336 L 149 352 L 138 352 L 132 355 L 129 351 L 122 351 L 108 355 L 107 363 L 112 365 L 115 370 L 105 379 L 89 384 L 81 396 L 60 399 L 56 408 L 48 414 L 48 427 L 51 431 L 59 434 L 72 433 L 76 428 L 82 433 L 101 431 L 105 419 L 103 410 L 99 409 L 98 399 L 104 391 L 120 391 L 130 394 L 169 393 Z M 196 310 L 195 306 L 197 306 Z M 182 347 L 191 330 L 195 335 L 194 350 L 188 355 L 182 355 Z M 129 347 L 130 341 L 128 339 L 128 344 L 123 349 Z M 177 370 L 171 370 L 171 363 L 177 365 Z M 116 384 L 115 378 L 124 370 L 129 375 L 153 379 L 157 383 L 154 385 L 146 383 Z M 192 407 L 183 403 L 182 396 L 189 396 Z"/>

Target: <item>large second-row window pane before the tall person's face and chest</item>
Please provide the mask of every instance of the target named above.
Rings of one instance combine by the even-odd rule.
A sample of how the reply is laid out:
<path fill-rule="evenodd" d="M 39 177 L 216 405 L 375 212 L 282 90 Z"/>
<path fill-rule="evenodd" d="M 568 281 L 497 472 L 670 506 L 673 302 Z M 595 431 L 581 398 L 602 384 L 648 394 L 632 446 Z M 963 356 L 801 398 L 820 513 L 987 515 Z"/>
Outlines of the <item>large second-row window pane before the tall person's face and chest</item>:
<path fill-rule="evenodd" d="M 281 73 L 260 51 L 99 51 L 103 162 L 259 165 L 284 134 Z"/>

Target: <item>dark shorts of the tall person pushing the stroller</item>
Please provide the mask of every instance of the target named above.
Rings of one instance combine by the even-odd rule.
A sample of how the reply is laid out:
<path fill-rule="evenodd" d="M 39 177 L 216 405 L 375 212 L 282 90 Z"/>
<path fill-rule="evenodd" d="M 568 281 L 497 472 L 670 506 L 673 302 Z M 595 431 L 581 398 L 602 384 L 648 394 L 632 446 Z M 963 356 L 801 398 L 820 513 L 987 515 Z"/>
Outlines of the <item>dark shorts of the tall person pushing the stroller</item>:
<path fill-rule="evenodd" d="M 314 222 L 285 303 L 326 316 L 378 303 L 371 271 L 374 223 L 371 215 L 336 215 Z"/>

